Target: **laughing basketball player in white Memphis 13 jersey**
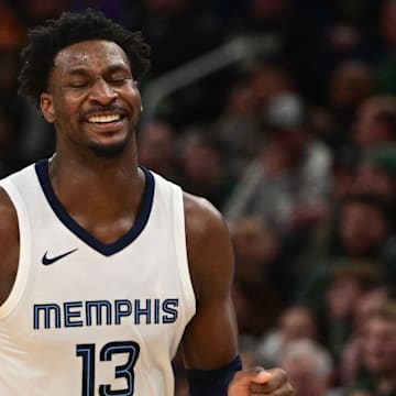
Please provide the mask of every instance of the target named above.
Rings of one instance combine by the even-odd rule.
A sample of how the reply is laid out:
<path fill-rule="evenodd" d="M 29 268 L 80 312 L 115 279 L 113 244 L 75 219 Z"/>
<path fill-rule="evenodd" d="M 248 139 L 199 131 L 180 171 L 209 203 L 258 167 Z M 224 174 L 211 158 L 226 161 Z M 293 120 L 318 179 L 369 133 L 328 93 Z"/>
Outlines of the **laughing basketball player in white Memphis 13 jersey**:
<path fill-rule="evenodd" d="M 138 165 L 148 46 L 94 11 L 33 30 L 20 91 L 56 151 L 0 185 L 0 395 L 292 394 L 240 371 L 232 249 L 205 200 Z"/>

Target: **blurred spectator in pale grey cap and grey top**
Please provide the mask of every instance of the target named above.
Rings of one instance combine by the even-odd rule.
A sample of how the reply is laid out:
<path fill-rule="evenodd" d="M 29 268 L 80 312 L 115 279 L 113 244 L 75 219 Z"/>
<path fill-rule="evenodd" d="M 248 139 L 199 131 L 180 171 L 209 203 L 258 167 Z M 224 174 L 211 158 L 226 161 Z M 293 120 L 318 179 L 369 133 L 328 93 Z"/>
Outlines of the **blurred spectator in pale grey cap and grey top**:
<path fill-rule="evenodd" d="M 311 135 L 298 96 L 275 97 L 266 120 L 268 142 L 245 169 L 224 212 L 231 222 L 243 215 L 258 216 L 284 234 L 324 216 L 331 155 Z"/>

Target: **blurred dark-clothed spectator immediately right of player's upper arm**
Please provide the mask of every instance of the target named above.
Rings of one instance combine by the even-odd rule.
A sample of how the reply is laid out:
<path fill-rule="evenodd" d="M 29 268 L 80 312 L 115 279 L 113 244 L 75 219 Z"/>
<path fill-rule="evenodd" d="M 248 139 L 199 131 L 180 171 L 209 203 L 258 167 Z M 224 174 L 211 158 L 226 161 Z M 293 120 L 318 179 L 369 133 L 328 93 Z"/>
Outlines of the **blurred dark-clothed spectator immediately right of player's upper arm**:
<path fill-rule="evenodd" d="M 257 218 L 241 218 L 231 228 L 235 251 L 233 300 L 240 332 L 257 337 L 274 326 L 282 308 L 274 280 L 279 241 Z M 263 307 L 266 307 L 263 310 Z"/>

